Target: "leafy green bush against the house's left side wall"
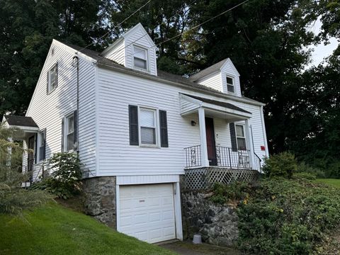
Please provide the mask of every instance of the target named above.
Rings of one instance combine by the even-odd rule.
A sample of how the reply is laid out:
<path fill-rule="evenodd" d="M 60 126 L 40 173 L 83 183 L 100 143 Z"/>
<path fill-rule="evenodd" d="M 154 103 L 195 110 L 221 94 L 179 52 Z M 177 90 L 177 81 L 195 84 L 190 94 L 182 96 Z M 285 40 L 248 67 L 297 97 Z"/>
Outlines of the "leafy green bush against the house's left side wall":
<path fill-rule="evenodd" d="M 35 183 L 33 189 L 48 191 L 65 200 L 81 192 L 81 162 L 77 154 L 55 153 L 49 164 L 50 176 Z"/>

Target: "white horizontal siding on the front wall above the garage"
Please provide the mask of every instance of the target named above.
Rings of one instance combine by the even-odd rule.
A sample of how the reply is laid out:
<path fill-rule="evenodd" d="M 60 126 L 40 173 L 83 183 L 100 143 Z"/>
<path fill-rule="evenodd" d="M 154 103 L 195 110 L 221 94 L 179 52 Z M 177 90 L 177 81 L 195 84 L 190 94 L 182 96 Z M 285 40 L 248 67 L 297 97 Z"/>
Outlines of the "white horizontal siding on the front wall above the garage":
<path fill-rule="evenodd" d="M 132 92 L 133 91 L 133 92 Z M 132 176 L 155 174 L 183 174 L 186 157 L 183 148 L 200 144 L 197 113 L 182 117 L 179 92 L 221 100 L 198 94 L 159 81 L 152 81 L 129 74 L 98 69 L 98 176 Z M 225 100 L 227 101 L 227 100 Z M 114 103 L 112 103 L 114 102 Z M 263 145 L 260 106 L 227 101 L 253 113 L 249 125 L 254 125 L 254 145 Z M 168 148 L 134 147 L 129 143 L 128 106 L 149 106 L 165 110 L 168 119 Z M 198 125 L 192 126 L 191 120 Z M 217 143 L 231 147 L 227 120 L 214 119 Z M 260 134 L 261 131 L 261 134 Z M 255 148 L 255 149 L 256 149 Z M 256 154 L 261 157 L 261 150 Z"/>

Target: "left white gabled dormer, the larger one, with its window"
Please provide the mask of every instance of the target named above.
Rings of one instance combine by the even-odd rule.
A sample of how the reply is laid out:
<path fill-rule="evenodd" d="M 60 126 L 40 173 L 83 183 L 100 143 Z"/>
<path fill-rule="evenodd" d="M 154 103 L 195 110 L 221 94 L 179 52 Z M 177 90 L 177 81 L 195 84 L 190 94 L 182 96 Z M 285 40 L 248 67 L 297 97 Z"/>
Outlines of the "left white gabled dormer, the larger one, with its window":
<path fill-rule="evenodd" d="M 141 23 L 101 52 L 123 66 L 157 76 L 156 45 Z"/>

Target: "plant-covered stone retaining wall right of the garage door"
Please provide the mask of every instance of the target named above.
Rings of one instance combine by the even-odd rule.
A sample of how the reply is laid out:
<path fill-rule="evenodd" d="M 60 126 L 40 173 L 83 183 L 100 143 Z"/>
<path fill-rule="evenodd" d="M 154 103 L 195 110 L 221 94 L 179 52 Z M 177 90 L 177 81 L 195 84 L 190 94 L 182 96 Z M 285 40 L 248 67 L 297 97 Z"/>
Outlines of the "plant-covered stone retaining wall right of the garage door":
<path fill-rule="evenodd" d="M 235 244 L 239 230 L 236 209 L 232 205 L 216 205 L 211 193 L 182 191 L 183 237 L 201 234 L 203 242 L 220 246 Z"/>

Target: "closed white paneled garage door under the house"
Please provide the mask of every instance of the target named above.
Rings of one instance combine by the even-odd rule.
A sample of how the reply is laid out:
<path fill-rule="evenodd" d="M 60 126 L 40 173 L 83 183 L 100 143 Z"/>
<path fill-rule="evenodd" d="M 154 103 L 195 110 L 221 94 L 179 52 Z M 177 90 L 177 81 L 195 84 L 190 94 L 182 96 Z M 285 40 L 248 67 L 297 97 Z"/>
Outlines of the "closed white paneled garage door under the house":
<path fill-rule="evenodd" d="M 120 186 L 119 231 L 149 243 L 175 239 L 172 183 Z"/>

